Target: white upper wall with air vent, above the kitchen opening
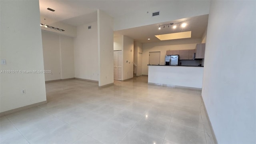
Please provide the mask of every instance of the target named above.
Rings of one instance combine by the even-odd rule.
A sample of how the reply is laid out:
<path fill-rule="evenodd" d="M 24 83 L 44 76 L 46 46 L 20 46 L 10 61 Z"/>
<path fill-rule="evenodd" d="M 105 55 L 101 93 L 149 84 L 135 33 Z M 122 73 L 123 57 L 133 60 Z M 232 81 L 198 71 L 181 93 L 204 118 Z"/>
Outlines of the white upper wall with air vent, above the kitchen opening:
<path fill-rule="evenodd" d="M 209 0 L 164 0 L 160 4 L 147 7 L 146 10 L 142 8 L 140 11 L 136 10 L 134 13 L 115 18 L 114 30 L 123 30 L 209 14 L 209 4 Z M 160 11 L 160 15 L 152 17 L 152 12 L 156 11 Z"/>

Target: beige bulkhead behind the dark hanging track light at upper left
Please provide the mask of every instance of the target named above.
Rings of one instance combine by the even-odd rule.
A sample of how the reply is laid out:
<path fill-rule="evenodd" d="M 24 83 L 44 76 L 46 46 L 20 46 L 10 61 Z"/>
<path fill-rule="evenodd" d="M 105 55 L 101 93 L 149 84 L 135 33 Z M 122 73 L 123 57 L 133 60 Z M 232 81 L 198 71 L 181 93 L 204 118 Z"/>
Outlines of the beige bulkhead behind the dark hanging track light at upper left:
<path fill-rule="evenodd" d="M 49 15 L 52 14 L 52 12 L 49 12 Z M 45 20 L 44 20 L 45 18 Z M 41 26 L 42 30 L 46 30 L 48 32 L 54 32 L 55 34 L 63 35 L 63 36 L 70 36 L 70 37 L 76 37 L 76 26 L 71 26 L 62 22 L 58 22 L 58 20 L 53 20 L 49 18 L 48 16 L 41 16 L 40 21 L 42 24 L 46 24 L 48 26 L 53 26 L 55 28 L 60 28 L 62 30 L 65 30 L 64 32 L 61 32 L 59 30 L 54 30 L 50 28 L 45 28 L 44 26 Z M 56 22 L 57 21 L 57 22 Z"/>

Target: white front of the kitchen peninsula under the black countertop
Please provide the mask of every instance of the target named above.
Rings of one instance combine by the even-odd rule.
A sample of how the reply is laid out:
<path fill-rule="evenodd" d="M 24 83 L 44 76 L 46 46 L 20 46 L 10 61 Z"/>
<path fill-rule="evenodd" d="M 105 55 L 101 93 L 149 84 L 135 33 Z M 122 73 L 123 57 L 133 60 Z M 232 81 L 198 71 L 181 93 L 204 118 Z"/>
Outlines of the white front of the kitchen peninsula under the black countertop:
<path fill-rule="evenodd" d="M 148 65 L 148 84 L 202 89 L 204 67 Z"/>

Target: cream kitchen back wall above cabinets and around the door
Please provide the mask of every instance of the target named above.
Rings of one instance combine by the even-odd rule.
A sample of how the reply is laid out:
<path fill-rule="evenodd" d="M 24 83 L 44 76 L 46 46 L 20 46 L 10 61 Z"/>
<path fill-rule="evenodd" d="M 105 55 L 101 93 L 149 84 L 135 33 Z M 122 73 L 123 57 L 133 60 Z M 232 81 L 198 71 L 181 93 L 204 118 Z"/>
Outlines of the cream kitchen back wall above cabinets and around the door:
<path fill-rule="evenodd" d="M 192 50 L 202 39 L 186 39 L 143 43 L 142 74 L 148 75 L 149 52 L 160 52 L 160 65 L 164 65 L 166 50 Z"/>

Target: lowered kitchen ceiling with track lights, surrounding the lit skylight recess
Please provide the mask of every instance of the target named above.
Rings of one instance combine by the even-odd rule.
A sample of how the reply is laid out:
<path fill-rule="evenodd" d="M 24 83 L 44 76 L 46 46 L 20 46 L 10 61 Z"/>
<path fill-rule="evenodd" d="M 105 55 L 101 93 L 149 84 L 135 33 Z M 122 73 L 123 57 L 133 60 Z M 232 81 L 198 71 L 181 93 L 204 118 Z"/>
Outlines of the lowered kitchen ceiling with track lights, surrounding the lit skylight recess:
<path fill-rule="evenodd" d="M 172 26 L 163 28 L 161 26 L 161 30 L 158 30 L 158 25 L 162 24 L 170 24 L 170 23 L 181 23 L 186 22 L 187 26 L 185 28 L 180 28 L 177 26 L 176 29 L 173 29 Z M 180 20 L 174 20 L 159 24 L 152 24 L 148 26 L 140 26 L 136 28 L 129 28 L 126 30 L 118 30 L 114 32 L 114 36 L 118 35 L 126 35 L 130 38 L 133 38 L 134 41 L 146 43 L 146 42 L 160 42 L 155 35 L 159 34 L 170 34 L 176 32 L 186 32 L 191 31 L 191 38 L 202 38 L 204 31 L 207 28 L 208 24 L 208 14 L 202 16 L 195 16 L 191 18 L 182 18 Z M 150 40 L 148 40 L 150 38 Z"/>

